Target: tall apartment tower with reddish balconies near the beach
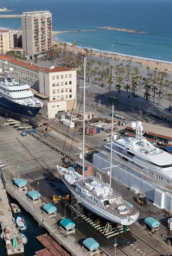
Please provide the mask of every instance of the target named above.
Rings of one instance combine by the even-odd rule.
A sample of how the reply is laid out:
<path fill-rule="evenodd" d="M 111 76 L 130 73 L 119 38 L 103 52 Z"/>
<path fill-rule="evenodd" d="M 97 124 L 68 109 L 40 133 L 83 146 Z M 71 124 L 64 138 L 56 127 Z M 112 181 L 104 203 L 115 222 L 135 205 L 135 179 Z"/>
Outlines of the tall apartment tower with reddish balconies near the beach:
<path fill-rule="evenodd" d="M 27 58 L 33 59 L 52 47 L 52 16 L 49 11 L 23 12 L 22 44 Z"/>

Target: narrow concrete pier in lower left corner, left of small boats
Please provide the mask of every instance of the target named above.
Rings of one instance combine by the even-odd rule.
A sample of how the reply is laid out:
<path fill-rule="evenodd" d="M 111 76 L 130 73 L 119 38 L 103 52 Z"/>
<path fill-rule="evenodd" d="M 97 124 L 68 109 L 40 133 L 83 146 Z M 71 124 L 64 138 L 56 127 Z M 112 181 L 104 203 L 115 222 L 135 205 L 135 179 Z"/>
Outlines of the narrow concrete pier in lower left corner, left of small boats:
<path fill-rule="evenodd" d="M 2 181 L 0 180 L 0 225 L 2 232 L 6 229 L 4 240 L 6 243 L 6 254 L 7 255 L 16 255 L 20 253 L 24 253 L 23 243 L 18 243 L 18 238 L 20 238 L 20 234 L 17 230 L 17 227 L 14 225 L 12 221 L 13 215 L 11 212 L 11 207 L 8 204 L 8 196 L 6 194 L 6 189 L 3 186 Z M 8 231 L 9 229 L 9 231 Z M 9 232 L 9 233 L 8 233 Z M 6 239 L 5 239 L 6 237 Z M 17 247 L 13 247 L 14 237 L 17 238 Z M 11 239 L 8 239 L 11 238 Z"/>

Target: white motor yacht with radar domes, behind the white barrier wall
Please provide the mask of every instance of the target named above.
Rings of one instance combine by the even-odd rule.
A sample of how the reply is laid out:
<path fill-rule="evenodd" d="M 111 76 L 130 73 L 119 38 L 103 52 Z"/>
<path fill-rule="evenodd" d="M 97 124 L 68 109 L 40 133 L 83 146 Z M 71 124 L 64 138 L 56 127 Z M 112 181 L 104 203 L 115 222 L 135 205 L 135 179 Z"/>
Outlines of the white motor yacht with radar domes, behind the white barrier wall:
<path fill-rule="evenodd" d="M 135 137 L 114 140 L 113 155 L 144 169 L 145 173 L 161 183 L 172 185 L 172 155 L 155 147 L 143 137 L 140 121 L 132 122 L 130 126 L 135 130 Z M 105 150 L 111 151 L 111 143 L 105 145 Z"/>

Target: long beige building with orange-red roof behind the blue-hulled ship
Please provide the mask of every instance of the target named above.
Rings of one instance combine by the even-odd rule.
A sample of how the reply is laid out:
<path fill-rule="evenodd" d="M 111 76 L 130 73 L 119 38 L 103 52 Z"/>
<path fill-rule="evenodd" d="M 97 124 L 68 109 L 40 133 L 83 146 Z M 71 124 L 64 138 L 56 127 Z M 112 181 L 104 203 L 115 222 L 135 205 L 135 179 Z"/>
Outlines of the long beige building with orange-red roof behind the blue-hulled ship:
<path fill-rule="evenodd" d="M 67 67 L 40 67 L 16 58 L 0 55 L 0 66 L 8 61 L 14 77 L 28 83 L 42 100 L 42 116 L 54 118 L 58 112 L 76 110 L 76 70 Z"/>

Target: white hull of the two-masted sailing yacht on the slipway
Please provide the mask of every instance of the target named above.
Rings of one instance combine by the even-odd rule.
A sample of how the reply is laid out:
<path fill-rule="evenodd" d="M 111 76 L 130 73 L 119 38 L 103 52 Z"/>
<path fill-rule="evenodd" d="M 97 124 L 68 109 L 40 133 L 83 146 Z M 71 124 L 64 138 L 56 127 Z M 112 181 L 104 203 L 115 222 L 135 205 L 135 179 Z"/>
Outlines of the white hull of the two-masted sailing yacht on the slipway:
<path fill-rule="evenodd" d="M 90 201 L 88 201 L 86 198 L 82 197 L 80 194 L 78 194 L 75 189 L 73 189 L 63 178 L 62 178 L 63 182 L 65 183 L 65 185 L 67 186 L 67 188 L 69 189 L 69 191 L 76 197 L 78 198 L 80 201 L 82 201 L 82 204 L 85 208 L 87 208 L 90 212 L 93 212 L 94 214 L 98 215 L 99 217 L 107 220 L 107 221 L 112 221 L 118 224 L 122 224 L 122 225 L 131 225 L 133 224 L 137 218 L 138 215 L 133 215 L 130 218 L 119 218 L 118 216 L 115 216 L 113 214 L 111 214 L 110 212 L 107 212 L 107 210 L 104 210 L 103 207 L 100 209 L 99 207 L 97 207 L 95 204 L 92 204 Z"/>

